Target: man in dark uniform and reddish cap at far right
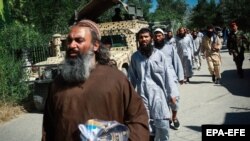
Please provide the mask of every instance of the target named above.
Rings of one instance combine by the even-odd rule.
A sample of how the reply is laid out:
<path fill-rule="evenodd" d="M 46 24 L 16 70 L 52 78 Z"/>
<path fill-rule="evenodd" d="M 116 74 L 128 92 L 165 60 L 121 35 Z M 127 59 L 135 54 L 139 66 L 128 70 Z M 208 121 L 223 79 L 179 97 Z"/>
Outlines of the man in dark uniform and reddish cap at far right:
<path fill-rule="evenodd" d="M 244 78 L 244 71 L 242 69 L 245 47 L 247 44 L 247 38 L 244 36 L 243 32 L 238 30 L 238 25 L 236 22 L 230 24 L 231 31 L 228 35 L 227 48 L 229 54 L 233 55 L 233 60 L 236 64 L 237 73 L 240 78 Z"/>

